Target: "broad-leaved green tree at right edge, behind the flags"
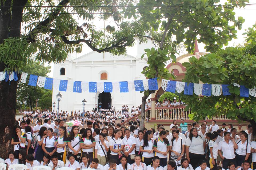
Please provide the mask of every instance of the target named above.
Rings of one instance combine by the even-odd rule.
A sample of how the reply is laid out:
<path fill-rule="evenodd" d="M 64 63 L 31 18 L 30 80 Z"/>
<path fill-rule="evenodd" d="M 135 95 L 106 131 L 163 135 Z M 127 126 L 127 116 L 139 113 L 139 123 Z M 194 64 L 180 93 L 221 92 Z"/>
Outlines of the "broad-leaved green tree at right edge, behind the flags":
<path fill-rule="evenodd" d="M 238 83 L 246 88 L 255 88 L 256 84 L 256 25 L 248 28 L 245 46 L 228 47 L 215 53 L 207 54 L 197 60 L 191 57 L 183 63 L 187 73 L 185 82 L 209 84 L 229 84 L 231 95 L 202 96 L 183 95 L 187 103 L 186 110 L 191 108 L 189 115 L 192 120 L 202 120 L 205 117 L 225 114 L 229 119 L 247 121 L 253 124 L 253 136 L 256 134 L 256 98 L 241 97 Z"/>

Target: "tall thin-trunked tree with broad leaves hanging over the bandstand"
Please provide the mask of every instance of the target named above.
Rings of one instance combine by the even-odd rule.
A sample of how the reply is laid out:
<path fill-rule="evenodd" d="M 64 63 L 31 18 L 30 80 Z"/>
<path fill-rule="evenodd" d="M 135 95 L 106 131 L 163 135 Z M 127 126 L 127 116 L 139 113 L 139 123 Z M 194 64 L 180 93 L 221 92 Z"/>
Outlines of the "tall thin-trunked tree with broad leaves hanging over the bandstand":
<path fill-rule="evenodd" d="M 140 21 L 148 27 L 155 48 L 145 49 L 149 66 L 143 70 L 147 78 L 169 79 L 174 76 L 165 68 L 168 60 L 175 62 L 175 54 L 181 43 L 189 53 L 194 50 L 194 41 L 204 43 L 206 51 L 214 52 L 236 38 L 237 31 L 244 22 L 235 19 L 235 7 L 245 6 L 247 0 L 228 1 L 217 5 L 219 0 L 143 0 L 136 7 Z M 133 8 L 134 9 L 134 8 Z M 144 55 L 142 56 L 142 58 Z M 145 102 L 155 91 L 144 91 L 140 128 L 145 119 Z"/>

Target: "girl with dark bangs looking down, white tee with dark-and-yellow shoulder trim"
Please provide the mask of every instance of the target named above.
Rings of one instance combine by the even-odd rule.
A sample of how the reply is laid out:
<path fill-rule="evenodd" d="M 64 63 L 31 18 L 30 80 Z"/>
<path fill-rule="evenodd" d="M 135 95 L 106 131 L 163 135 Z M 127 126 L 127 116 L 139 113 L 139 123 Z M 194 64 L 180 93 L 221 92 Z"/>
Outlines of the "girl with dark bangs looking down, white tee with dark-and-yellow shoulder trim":
<path fill-rule="evenodd" d="M 159 133 L 159 137 L 155 139 L 154 141 L 154 151 L 155 156 L 158 156 L 160 158 L 160 166 L 165 167 L 167 165 L 167 154 L 170 149 L 169 141 L 166 138 L 167 132 L 166 130 L 162 130 Z"/>

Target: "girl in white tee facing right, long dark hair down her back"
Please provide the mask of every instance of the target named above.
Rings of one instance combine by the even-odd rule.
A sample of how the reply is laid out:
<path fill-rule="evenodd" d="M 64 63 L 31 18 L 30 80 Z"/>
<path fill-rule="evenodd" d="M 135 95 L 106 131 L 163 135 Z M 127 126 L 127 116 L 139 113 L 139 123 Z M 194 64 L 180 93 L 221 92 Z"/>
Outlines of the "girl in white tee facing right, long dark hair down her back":
<path fill-rule="evenodd" d="M 142 152 L 142 161 L 148 166 L 152 163 L 152 159 L 154 157 L 154 150 L 153 150 L 153 131 L 148 130 L 144 134 L 143 140 L 140 144 L 140 151 Z"/>

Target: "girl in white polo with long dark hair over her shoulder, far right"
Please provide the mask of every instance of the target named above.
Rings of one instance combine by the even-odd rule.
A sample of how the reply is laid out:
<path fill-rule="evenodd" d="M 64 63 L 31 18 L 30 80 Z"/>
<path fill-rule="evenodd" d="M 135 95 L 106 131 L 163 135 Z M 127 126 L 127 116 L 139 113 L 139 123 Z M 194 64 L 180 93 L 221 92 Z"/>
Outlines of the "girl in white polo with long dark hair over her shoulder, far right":
<path fill-rule="evenodd" d="M 242 132 L 240 135 L 241 140 L 237 142 L 238 148 L 235 150 L 235 159 L 237 165 L 242 165 L 244 160 L 248 160 L 251 153 L 251 145 L 248 142 L 248 134 Z"/>

